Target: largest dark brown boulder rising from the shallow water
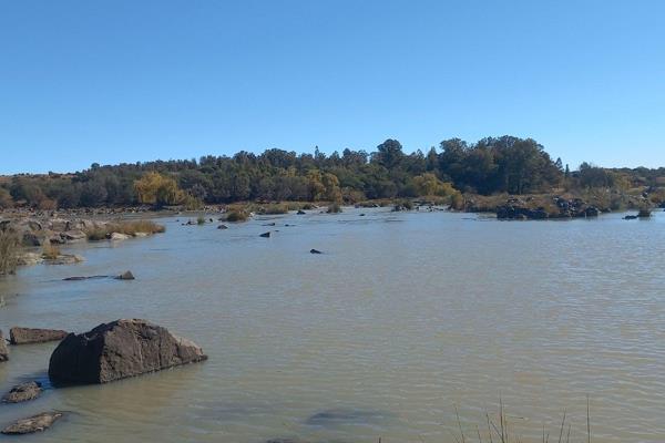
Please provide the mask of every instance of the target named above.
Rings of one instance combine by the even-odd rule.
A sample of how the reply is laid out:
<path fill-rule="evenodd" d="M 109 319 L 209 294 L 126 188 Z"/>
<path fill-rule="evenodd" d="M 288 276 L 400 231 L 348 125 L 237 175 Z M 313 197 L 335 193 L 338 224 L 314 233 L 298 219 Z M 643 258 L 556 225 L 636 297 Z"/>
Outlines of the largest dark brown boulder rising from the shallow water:
<path fill-rule="evenodd" d="M 61 383 L 108 383 L 204 361 L 195 343 L 146 320 L 116 320 L 70 333 L 53 351 L 49 377 Z"/>

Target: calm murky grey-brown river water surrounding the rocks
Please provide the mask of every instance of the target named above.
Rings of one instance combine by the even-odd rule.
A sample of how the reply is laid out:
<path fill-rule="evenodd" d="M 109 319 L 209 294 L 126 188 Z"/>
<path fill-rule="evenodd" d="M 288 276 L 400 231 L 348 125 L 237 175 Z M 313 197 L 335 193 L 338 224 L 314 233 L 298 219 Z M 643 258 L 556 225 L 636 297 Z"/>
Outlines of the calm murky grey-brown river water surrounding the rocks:
<path fill-rule="evenodd" d="M 524 441 L 543 425 L 556 441 L 565 410 L 581 442 L 589 395 L 594 442 L 663 442 L 665 213 L 621 217 L 348 208 L 226 230 L 173 217 L 162 235 L 69 247 L 85 261 L 0 279 L 6 334 L 145 318 L 209 360 L 54 389 L 55 344 L 13 347 L 0 390 L 47 390 L 0 405 L 0 425 L 55 409 L 66 418 L 21 441 L 447 443 L 460 424 L 468 441 L 487 433 L 501 399 Z M 136 280 L 62 281 L 127 269 Z"/>

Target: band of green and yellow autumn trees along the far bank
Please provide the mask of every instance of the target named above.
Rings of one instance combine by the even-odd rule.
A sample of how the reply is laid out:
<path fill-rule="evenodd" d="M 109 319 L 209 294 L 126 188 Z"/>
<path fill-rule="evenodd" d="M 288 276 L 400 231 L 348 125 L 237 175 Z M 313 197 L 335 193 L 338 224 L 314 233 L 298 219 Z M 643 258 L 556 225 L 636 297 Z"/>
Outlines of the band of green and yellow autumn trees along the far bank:
<path fill-rule="evenodd" d="M 569 188 L 664 185 L 665 169 L 605 169 L 584 163 L 571 172 L 532 138 L 446 140 L 427 153 L 405 153 L 396 140 L 375 152 L 326 155 L 267 150 L 233 156 L 99 165 L 73 174 L 20 174 L 0 184 L 0 207 L 42 209 L 242 200 L 330 200 L 441 196 L 460 193 L 546 193 Z"/>

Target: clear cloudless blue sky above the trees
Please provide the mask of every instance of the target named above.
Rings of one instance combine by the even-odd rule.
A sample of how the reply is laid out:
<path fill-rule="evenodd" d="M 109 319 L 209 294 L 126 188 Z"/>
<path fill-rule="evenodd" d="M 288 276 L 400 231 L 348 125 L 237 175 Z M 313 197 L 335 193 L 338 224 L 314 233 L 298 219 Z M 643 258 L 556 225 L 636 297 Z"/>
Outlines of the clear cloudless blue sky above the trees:
<path fill-rule="evenodd" d="M 531 136 L 665 166 L 665 1 L 0 0 L 0 173 Z"/>

